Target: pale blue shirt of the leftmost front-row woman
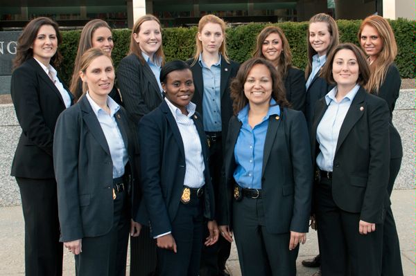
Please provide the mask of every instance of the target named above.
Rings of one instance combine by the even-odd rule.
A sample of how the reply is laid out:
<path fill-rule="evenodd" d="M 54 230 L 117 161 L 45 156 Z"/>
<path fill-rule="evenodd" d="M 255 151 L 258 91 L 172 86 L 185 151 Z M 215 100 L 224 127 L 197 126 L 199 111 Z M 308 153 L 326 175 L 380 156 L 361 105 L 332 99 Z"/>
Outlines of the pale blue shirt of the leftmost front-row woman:
<path fill-rule="evenodd" d="M 114 118 L 114 114 L 119 111 L 120 106 L 112 98 L 107 96 L 107 106 L 110 108 L 110 114 L 108 114 L 92 100 L 88 92 L 86 97 L 89 104 L 91 104 L 92 111 L 97 116 L 98 122 L 100 122 L 105 140 L 107 140 L 113 163 L 113 178 L 121 177 L 124 174 L 125 164 L 128 162 L 128 154 L 119 125 L 117 125 L 116 118 Z"/>

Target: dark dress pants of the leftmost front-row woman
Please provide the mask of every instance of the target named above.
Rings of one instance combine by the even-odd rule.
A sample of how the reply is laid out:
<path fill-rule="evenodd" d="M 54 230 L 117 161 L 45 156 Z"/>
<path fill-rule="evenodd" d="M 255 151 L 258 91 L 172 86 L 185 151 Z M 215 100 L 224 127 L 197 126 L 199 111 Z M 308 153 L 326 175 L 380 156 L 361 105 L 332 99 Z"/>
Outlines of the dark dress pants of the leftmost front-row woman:
<path fill-rule="evenodd" d="M 125 276 L 125 263 L 130 230 L 128 193 L 116 194 L 113 227 L 100 237 L 84 237 L 82 250 L 75 255 L 78 276 Z"/>

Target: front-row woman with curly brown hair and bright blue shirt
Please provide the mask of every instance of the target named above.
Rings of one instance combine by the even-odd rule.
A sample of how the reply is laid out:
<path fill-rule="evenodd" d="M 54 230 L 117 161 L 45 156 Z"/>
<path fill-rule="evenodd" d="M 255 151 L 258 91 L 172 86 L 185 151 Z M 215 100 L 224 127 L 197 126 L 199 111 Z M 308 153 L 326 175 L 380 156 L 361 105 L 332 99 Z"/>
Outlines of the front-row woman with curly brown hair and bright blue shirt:
<path fill-rule="evenodd" d="M 288 109 L 272 63 L 244 62 L 231 85 L 220 232 L 236 239 L 241 272 L 296 275 L 299 243 L 306 241 L 312 163 L 306 121 Z"/>

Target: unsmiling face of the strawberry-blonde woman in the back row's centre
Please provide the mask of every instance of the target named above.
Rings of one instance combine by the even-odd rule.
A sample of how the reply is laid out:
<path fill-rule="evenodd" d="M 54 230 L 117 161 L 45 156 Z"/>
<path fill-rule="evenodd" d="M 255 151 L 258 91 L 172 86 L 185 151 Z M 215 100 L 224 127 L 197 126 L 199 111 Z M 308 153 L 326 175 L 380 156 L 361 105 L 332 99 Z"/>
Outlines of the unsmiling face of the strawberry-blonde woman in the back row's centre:
<path fill-rule="evenodd" d="M 224 33 L 220 24 L 208 22 L 198 33 L 198 39 L 202 43 L 202 51 L 216 54 L 224 41 Z"/>

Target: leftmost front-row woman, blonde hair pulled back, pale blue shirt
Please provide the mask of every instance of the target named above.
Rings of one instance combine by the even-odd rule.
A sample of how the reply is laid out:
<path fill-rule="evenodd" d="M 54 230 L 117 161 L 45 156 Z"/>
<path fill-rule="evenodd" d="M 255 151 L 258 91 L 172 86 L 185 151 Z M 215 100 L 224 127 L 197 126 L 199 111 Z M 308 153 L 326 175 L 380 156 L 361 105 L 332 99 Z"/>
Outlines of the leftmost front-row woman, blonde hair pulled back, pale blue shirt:
<path fill-rule="evenodd" d="M 87 93 L 62 112 L 53 141 L 60 240 L 75 255 L 77 275 L 121 276 L 134 145 L 127 113 L 108 96 L 115 77 L 110 57 L 98 48 L 87 50 L 80 77 Z"/>

